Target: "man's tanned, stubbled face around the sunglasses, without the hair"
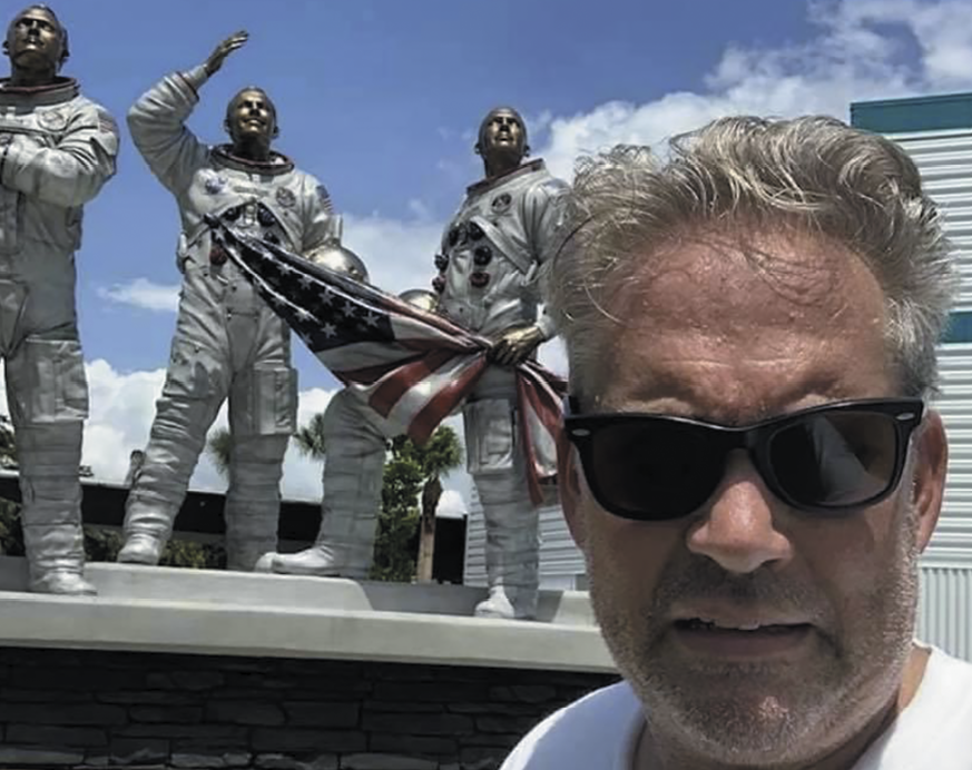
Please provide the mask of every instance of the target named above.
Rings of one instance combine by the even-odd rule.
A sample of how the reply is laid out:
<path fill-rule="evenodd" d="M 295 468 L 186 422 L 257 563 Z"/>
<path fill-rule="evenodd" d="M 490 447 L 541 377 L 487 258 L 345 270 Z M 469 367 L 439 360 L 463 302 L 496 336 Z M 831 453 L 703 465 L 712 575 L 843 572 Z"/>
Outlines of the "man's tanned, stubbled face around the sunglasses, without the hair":
<path fill-rule="evenodd" d="M 644 257 L 655 267 L 611 306 L 624 323 L 585 412 L 745 425 L 901 395 L 881 288 L 846 248 L 757 233 L 683 238 Z M 561 495 L 595 610 L 651 732 L 710 762 L 747 767 L 812 759 L 856 734 L 896 694 L 916 557 L 943 474 L 933 414 L 912 440 L 897 491 L 876 505 L 831 517 L 794 511 L 735 451 L 699 510 L 646 523 L 602 510 L 576 453 L 562 451 Z"/>

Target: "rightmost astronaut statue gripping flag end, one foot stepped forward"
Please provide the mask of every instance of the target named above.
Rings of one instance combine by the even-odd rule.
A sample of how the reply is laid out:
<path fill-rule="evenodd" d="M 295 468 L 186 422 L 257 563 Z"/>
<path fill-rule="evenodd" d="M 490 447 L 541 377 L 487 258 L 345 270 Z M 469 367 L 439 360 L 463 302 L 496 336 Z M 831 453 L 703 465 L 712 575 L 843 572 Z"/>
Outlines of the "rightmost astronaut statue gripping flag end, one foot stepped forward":
<path fill-rule="evenodd" d="M 433 286 L 439 313 L 494 340 L 493 365 L 462 407 L 468 466 L 487 526 L 490 593 L 475 614 L 532 618 L 538 512 L 527 483 L 512 367 L 553 334 L 552 320 L 538 313 L 540 270 L 559 238 L 566 185 L 542 160 L 523 162 L 527 129 L 511 108 L 487 115 L 475 149 L 485 178 L 469 187 L 445 229 Z M 428 303 L 421 296 L 415 300 Z M 271 554 L 261 567 L 365 578 L 373 561 L 387 425 L 351 388 L 331 399 L 324 419 L 325 440 L 334 451 L 324 467 L 317 542 L 297 554 Z"/>

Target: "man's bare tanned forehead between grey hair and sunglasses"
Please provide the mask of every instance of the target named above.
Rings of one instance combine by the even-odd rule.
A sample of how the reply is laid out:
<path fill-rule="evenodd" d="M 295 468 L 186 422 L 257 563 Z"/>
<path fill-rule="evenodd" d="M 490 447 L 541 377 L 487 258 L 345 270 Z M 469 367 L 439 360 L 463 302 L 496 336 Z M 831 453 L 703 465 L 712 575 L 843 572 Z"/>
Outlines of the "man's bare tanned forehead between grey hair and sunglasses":
<path fill-rule="evenodd" d="M 685 394 L 693 378 L 721 403 L 736 383 L 748 407 L 759 384 L 772 383 L 774 403 L 809 384 L 835 398 L 863 388 L 858 374 L 884 371 L 884 295 L 860 255 L 803 234 L 747 240 L 733 248 L 691 239 L 639 255 L 610 302 L 625 320 L 600 346 L 598 368 L 610 373 L 600 389 L 626 401 L 642 391 Z M 652 257 L 661 265 L 645 265 Z M 856 361 L 851 343 L 862 351 Z M 863 362 L 865 349 L 880 354 Z"/>

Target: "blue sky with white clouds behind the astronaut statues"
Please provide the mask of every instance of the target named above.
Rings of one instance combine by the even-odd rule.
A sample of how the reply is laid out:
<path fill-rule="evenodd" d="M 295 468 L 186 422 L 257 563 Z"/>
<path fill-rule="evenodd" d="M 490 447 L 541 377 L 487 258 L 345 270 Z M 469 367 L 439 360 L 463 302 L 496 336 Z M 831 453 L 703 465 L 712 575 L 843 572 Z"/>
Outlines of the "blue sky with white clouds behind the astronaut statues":
<path fill-rule="evenodd" d="M 237 29 L 249 42 L 203 89 L 190 127 L 223 140 L 229 97 L 264 87 L 278 149 L 331 190 L 345 240 L 374 282 L 425 286 L 441 227 L 481 175 L 482 115 L 527 116 L 534 155 L 570 177 L 578 152 L 657 144 L 732 112 L 826 112 L 857 99 L 972 89 L 964 0 L 85 0 L 53 2 L 66 75 L 122 126 L 119 171 L 86 213 L 78 255 L 92 383 L 86 462 L 124 475 L 143 443 L 175 325 L 175 206 L 136 152 L 124 116 L 160 77 L 200 63 Z M 12 9 L 13 6 L 8 4 Z M 547 361 L 562 367 L 557 346 Z M 297 343 L 302 417 L 336 383 Z M 288 458 L 285 490 L 316 470 Z M 210 486 L 205 463 L 196 483 Z M 458 474 L 451 485 L 468 492 Z"/>

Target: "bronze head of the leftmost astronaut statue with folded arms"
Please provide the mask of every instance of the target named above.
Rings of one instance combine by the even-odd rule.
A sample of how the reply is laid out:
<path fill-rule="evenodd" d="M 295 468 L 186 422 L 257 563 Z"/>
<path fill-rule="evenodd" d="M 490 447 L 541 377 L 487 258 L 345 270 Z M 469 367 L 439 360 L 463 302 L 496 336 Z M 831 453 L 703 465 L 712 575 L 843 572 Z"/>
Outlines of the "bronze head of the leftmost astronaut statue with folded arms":
<path fill-rule="evenodd" d="M 7 28 L 10 86 L 47 86 L 68 58 L 68 32 L 47 6 L 28 6 Z"/>

